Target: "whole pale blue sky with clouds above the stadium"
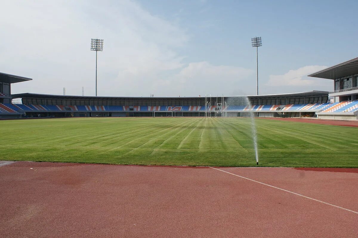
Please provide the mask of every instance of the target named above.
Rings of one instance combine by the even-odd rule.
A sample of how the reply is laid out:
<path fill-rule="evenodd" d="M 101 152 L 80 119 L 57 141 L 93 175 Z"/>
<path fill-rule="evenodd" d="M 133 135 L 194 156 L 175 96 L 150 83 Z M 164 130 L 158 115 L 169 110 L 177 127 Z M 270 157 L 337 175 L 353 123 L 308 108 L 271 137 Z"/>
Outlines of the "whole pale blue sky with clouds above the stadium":
<path fill-rule="evenodd" d="M 252 95 L 332 90 L 306 75 L 357 57 L 357 1 L 8 1 L 0 72 L 32 77 L 13 93 Z M 14 14 L 16 12 L 16 14 Z M 30 47 L 28 47 L 30 45 Z"/>

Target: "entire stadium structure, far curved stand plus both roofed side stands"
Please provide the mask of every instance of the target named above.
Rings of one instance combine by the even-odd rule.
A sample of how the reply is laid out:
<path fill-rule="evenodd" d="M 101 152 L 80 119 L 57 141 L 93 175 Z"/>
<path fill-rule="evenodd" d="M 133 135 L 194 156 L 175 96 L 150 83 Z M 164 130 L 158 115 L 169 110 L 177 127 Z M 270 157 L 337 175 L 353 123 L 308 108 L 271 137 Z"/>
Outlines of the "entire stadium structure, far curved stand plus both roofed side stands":
<path fill-rule="evenodd" d="M 248 116 L 358 119 L 358 58 L 311 77 L 334 80 L 333 92 L 219 97 L 95 97 L 19 93 L 11 83 L 32 80 L 0 73 L 0 117 Z M 328 100 L 329 96 L 334 101 Z M 22 104 L 11 103 L 21 98 Z"/>

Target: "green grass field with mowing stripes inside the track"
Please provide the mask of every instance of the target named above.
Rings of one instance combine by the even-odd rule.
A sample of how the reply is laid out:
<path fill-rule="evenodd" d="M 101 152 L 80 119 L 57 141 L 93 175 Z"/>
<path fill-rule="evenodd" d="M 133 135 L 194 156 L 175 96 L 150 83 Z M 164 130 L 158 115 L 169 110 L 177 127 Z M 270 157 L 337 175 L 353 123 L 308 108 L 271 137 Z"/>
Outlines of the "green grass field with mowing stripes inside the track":
<path fill-rule="evenodd" d="M 0 121 L 0 159 L 256 166 L 249 118 Z M 358 128 L 256 119 L 260 166 L 358 167 Z"/>

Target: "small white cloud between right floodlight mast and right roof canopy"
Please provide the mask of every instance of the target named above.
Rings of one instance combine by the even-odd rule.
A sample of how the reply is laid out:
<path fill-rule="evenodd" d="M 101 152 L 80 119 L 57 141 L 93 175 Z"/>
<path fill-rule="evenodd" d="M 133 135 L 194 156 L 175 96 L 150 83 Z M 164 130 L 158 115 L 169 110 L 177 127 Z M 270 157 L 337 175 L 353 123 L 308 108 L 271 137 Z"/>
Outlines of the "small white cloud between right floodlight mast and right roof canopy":
<path fill-rule="evenodd" d="M 319 85 L 318 80 L 307 75 L 325 69 L 326 66 L 310 65 L 297 70 L 290 70 L 284 75 L 270 75 L 268 86 L 311 86 Z"/>

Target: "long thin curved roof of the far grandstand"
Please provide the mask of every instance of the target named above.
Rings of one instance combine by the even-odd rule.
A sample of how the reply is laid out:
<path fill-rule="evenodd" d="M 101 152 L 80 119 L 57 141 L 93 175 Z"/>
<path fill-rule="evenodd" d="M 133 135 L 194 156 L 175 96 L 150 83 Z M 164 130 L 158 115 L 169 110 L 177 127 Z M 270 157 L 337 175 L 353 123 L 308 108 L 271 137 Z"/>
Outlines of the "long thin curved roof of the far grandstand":
<path fill-rule="evenodd" d="M 269 94 L 269 95 L 249 95 L 250 99 L 256 98 L 282 98 L 282 97 L 311 97 L 311 96 L 324 96 L 328 95 L 326 91 L 308 91 L 308 92 L 297 92 L 297 93 L 282 93 L 282 94 Z M 51 94 L 38 94 L 38 93 L 18 93 L 11 95 L 13 98 L 31 97 L 31 98 L 53 98 L 53 99 L 77 99 L 77 100 L 124 100 L 124 99 L 155 99 L 155 100 L 198 100 L 201 97 L 99 97 L 99 96 L 71 96 L 71 95 L 51 95 Z M 216 96 L 212 96 L 216 97 Z M 219 95 L 219 97 L 221 97 Z M 229 97 L 244 97 L 244 96 L 224 96 Z"/>

